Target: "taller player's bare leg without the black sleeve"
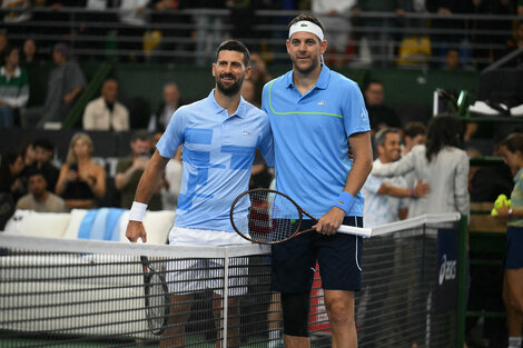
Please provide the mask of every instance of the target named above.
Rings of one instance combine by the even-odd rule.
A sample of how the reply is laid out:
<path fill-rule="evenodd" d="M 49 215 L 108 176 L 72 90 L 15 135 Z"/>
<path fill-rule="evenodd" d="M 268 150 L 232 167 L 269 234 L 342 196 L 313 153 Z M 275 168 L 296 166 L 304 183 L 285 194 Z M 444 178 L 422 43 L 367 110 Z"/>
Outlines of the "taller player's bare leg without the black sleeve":
<path fill-rule="evenodd" d="M 325 307 L 333 331 L 333 348 L 356 348 L 357 335 L 354 321 L 354 292 L 325 290 Z"/>

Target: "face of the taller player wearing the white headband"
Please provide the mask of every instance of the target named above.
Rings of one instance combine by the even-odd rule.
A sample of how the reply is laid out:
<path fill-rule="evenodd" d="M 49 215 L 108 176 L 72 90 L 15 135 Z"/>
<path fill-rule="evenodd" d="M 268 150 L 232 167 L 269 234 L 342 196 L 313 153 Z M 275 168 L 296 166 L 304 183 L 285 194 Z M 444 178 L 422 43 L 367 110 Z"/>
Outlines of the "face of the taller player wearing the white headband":
<path fill-rule="evenodd" d="M 320 54 L 325 53 L 327 41 L 319 41 L 314 33 L 299 31 L 287 40 L 287 53 L 293 67 L 302 74 L 319 69 Z"/>

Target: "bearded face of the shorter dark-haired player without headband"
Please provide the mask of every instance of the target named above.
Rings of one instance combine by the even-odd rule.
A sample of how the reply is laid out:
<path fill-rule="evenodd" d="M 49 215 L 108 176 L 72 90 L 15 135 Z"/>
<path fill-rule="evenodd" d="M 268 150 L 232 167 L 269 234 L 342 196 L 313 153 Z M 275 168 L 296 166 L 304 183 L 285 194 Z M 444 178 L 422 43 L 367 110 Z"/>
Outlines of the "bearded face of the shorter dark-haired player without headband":
<path fill-rule="evenodd" d="M 221 50 L 216 63 L 213 63 L 213 76 L 220 93 L 233 97 L 239 93 L 244 79 L 250 76 L 250 67 L 244 64 L 244 53 Z"/>

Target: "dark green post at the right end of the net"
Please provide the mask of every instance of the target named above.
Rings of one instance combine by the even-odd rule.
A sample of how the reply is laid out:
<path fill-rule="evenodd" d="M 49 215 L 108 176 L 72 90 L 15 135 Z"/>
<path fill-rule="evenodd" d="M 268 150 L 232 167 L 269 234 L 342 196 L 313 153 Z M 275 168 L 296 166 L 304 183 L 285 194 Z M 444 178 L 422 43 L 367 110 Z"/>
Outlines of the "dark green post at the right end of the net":
<path fill-rule="evenodd" d="M 466 276 L 467 276 L 467 235 L 468 219 L 462 215 L 457 236 L 457 308 L 456 308 L 456 348 L 465 344 L 466 315 Z"/>

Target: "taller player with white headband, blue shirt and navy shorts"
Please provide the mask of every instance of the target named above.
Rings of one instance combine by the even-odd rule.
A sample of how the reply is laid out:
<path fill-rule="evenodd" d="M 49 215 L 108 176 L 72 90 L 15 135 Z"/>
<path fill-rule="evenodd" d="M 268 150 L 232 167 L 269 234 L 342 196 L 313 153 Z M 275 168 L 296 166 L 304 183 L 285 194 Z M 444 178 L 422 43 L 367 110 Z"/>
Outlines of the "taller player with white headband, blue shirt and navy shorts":
<path fill-rule="evenodd" d="M 354 291 L 359 290 L 361 237 L 336 233 L 363 227 L 359 190 L 372 170 L 371 127 L 358 86 L 329 70 L 323 26 L 308 14 L 289 23 L 293 70 L 269 81 L 262 109 L 269 116 L 275 147 L 276 190 L 315 217 L 304 233 L 273 246 L 273 288 L 282 292 L 284 341 L 309 347 L 308 308 L 318 261 L 333 347 L 357 347 Z M 349 159 L 349 150 L 354 161 Z"/>

